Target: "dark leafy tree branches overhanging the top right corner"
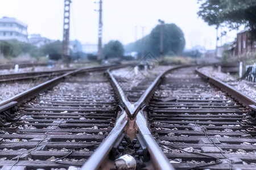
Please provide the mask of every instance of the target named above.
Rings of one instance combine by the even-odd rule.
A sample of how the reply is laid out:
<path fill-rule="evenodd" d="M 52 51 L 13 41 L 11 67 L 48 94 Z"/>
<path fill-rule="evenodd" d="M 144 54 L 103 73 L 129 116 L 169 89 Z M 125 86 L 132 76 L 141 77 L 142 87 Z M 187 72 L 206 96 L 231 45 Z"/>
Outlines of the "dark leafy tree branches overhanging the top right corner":
<path fill-rule="evenodd" d="M 256 0 L 198 0 L 200 11 L 197 12 L 209 25 L 238 29 L 241 24 L 250 28 L 256 37 Z"/>

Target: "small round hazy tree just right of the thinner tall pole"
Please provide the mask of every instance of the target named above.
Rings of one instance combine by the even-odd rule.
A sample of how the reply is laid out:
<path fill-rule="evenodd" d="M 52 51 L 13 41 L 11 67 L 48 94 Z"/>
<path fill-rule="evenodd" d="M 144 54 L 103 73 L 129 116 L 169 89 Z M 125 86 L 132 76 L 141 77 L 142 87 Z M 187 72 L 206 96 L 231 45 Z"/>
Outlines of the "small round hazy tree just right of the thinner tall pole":
<path fill-rule="evenodd" d="M 125 50 L 123 45 L 119 41 L 109 41 L 108 44 L 104 46 L 103 53 L 105 58 L 121 58 Z"/>

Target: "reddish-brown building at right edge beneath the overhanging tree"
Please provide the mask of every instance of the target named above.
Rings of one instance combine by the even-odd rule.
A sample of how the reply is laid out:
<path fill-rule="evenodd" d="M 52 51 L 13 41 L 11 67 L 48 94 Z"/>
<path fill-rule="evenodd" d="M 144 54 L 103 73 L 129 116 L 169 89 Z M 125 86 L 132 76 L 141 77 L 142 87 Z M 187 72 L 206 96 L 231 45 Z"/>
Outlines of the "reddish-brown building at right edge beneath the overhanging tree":
<path fill-rule="evenodd" d="M 256 40 L 250 40 L 250 33 L 247 30 L 237 33 L 236 44 L 236 56 L 247 52 L 256 52 Z"/>

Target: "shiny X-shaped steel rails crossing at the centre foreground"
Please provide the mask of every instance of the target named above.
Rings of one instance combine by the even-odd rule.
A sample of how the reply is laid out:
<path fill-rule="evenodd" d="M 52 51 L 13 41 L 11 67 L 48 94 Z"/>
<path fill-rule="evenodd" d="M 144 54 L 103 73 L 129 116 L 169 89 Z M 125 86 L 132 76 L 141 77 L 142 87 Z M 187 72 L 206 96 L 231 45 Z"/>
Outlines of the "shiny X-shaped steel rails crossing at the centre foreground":
<path fill-rule="evenodd" d="M 119 99 L 125 104 L 125 109 L 126 109 L 125 114 L 127 115 L 127 117 L 126 117 L 127 121 L 125 122 L 125 126 L 127 126 L 129 124 L 128 123 L 129 120 L 136 119 L 135 122 L 138 127 L 138 131 L 139 131 L 139 133 L 142 134 L 142 137 L 143 137 L 144 141 L 146 142 L 148 151 L 150 152 L 152 161 L 154 162 L 154 166 L 156 169 L 174 169 L 174 167 L 172 167 L 172 165 L 169 162 L 169 160 L 167 159 L 166 155 L 164 155 L 164 153 L 162 152 L 158 143 L 155 141 L 154 137 L 152 137 L 152 134 L 150 133 L 150 130 L 147 127 L 147 120 L 144 118 L 144 116 L 142 114 L 143 111 L 139 111 L 139 109 L 141 108 L 143 103 L 147 102 L 150 99 L 155 88 L 158 87 L 158 84 L 160 83 L 160 80 L 162 79 L 162 77 L 165 74 L 167 74 L 168 72 L 178 69 L 178 68 L 181 68 L 181 67 L 188 67 L 188 65 L 173 67 L 167 71 L 164 71 L 162 74 L 160 74 L 154 80 L 154 82 L 150 85 L 150 87 L 147 88 L 147 90 L 143 93 L 143 95 L 139 98 L 139 100 L 135 104 L 130 103 L 130 101 L 127 99 L 125 93 L 123 92 L 122 88 L 119 86 L 117 80 L 114 78 L 113 74 L 111 73 L 112 69 L 108 69 L 108 74 L 109 74 L 110 79 L 114 85 L 113 87 L 115 88 L 115 91 L 117 92 L 117 95 L 119 96 Z M 118 129 L 118 133 L 120 135 L 122 134 L 123 131 L 124 131 L 123 128 Z M 115 132 L 115 133 L 117 133 L 117 132 Z M 107 139 L 105 139 L 105 141 L 106 140 Z M 112 143 L 112 145 L 106 145 L 105 143 L 102 143 L 102 145 L 100 146 L 101 148 L 109 147 L 109 149 L 108 150 L 105 149 L 104 151 L 101 151 L 100 148 L 98 148 L 93 153 L 93 155 L 88 159 L 88 161 L 86 161 L 85 164 L 82 166 L 82 170 L 90 169 L 92 166 L 91 164 L 95 164 L 94 168 L 92 168 L 92 169 L 98 169 L 101 166 L 102 162 L 104 162 L 103 159 L 106 158 L 105 156 L 103 157 L 101 155 L 109 154 L 110 148 L 112 148 L 114 145 L 113 141 L 111 143 Z M 101 158 L 100 160 L 96 159 L 99 157 Z"/>

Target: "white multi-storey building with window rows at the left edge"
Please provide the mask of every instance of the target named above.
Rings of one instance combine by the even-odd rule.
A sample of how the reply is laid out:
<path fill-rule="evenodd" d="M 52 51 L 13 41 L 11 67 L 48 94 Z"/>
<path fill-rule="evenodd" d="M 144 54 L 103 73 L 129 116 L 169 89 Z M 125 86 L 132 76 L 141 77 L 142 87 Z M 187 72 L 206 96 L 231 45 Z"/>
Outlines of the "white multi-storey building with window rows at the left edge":
<path fill-rule="evenodd" d="M 12 39 L 27 42 L 27 24 L 4 16 L 0 19 L 0 40 Z"/>

